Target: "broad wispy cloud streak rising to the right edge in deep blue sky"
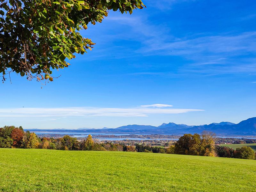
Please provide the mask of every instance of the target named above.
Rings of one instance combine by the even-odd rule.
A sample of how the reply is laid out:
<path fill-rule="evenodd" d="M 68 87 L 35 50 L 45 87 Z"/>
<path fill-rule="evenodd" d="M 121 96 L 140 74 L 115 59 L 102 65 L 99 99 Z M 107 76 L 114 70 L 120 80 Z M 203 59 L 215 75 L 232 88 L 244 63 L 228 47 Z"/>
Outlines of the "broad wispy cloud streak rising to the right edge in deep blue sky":
<path fill-rule="evenodd" d="M 176 38 L 171 41 L 162 39 L 155 42 L 154 39 L 147 42 L 147 46 L 142 49 L 146 52 L 155 52 L 167 55 L 182 55 L 190 59 L 198 59 L 202 55 L 213 56 L 212 54 L 228 53 L 228 55 L 243 55 L 250 52 L 255 53 L 256 32 L 246 32 L 238 35 L 223 34 L 220 36 L 198 36 Z M 199 55 L 198 55 L 199 54 Z M 223 57 L 219 57 L 223 58 Z M 218 58 L 218 59 L 219 59 Z"/>

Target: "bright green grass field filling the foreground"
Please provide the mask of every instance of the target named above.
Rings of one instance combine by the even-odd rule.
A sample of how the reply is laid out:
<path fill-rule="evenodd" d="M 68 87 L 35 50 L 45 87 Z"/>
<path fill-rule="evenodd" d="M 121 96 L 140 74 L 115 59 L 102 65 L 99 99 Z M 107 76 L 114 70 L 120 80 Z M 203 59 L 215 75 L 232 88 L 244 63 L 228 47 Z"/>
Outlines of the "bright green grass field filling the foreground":
<path fill-rule="evenodd" d="M 0 148 L 0 191 L 255 191 L 256 161 Z"/>

